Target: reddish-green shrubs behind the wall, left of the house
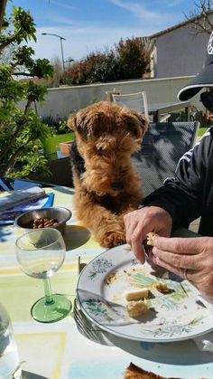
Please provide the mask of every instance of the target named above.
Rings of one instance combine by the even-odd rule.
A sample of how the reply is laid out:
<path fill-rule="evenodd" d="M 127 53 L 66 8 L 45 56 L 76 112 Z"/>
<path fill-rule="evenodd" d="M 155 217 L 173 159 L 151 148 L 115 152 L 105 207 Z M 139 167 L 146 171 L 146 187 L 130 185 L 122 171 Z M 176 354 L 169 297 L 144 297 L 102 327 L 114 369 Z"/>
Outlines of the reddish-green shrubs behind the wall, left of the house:
<path fill-rule="evenodd" d="M 114 50 L 92 52 L 75 62 L 61 84 L 87 84 L 142 78 L 149 71 L 149 56 L 140 38 L 121 40 Z"/>

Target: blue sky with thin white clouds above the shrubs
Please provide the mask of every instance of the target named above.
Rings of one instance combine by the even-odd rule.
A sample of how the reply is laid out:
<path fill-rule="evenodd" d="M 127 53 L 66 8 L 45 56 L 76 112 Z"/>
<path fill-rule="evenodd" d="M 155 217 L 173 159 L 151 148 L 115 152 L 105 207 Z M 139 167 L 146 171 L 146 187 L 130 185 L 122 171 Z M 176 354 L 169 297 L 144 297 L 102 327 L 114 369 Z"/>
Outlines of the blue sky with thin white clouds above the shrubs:
<path fill-rule="evenodd" d="M 197 0 L 199 3 L 199 0 Z M 29 10 L 37 27 L 37 43 L 31 43 L 36 58 L 75 61 L 88 52 L 105 51 L 121 38 L 149 36 L 186 21 L 184 14 L 196 10 L 194 0 L 8 0 Z"/>

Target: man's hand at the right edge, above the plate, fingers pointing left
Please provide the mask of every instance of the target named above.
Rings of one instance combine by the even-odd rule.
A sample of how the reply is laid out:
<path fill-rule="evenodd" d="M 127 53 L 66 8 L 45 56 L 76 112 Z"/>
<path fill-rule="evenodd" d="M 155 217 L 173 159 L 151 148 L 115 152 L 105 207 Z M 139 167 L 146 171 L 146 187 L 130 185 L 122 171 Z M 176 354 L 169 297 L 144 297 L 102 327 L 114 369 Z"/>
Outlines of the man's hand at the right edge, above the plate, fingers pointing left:
<path fill-rule="evenodd" d="M 153 261 L 183 278 L 187 272 L 187 279 L 213 300 L 213 237 L 157 237 Z"/>

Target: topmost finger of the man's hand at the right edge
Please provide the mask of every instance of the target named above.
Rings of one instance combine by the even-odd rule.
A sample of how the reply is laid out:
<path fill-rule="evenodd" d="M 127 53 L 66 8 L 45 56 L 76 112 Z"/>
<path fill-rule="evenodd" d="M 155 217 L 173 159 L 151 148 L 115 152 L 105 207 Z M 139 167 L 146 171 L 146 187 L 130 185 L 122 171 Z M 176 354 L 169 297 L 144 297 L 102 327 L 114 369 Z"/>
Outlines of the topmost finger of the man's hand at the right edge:
<path fill-rule="evenodd" d="M 203 238 L 164 238 L 158 237 L 154 240 L 154 246 L 162 251 L 171 251 L 176 254 L 199 254 L 205 248 Z"/>

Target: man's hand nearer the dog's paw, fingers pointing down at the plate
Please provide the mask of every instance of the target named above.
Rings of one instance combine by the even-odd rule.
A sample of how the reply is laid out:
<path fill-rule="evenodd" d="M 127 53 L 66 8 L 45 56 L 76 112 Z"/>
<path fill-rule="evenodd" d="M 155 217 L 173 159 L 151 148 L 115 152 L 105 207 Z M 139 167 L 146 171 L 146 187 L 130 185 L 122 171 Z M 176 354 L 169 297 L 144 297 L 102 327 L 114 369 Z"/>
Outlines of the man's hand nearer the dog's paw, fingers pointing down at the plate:
<path fill-rule="evenodd" d="M 171 235 L 171 215 L 157 206 L 145 206 L 125 214 L 125 238 L 134 255 L 144 263 L 143 242 L 148 232 L 156 232 L 163 237 Z"/>

